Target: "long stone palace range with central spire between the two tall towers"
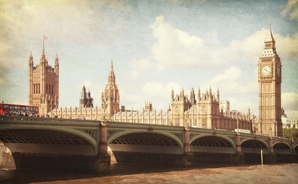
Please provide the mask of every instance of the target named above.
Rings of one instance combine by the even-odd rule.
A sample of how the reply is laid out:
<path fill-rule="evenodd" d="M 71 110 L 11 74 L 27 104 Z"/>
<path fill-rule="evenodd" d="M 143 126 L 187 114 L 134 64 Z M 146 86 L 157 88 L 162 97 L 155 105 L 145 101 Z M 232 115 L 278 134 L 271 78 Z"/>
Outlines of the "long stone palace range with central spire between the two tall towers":
<path fill-rule="evenodd" d="M 84 87 L 82 89 L 84 94 Z M 81 98 L 84 99 L 84 98 Z M 82 101 L 83 102 L 83 101 Z M 62 118 L 85 118 L 88 120 L 112 119 L 117 122 L 150 123 L 177 126 L 197 126 L 204 128 L 220 128 L 227 130 L 239 129 L 251 130 L 252 122 L 250 109 L 247 114 L 230 111 L 229 101 L 220 101 L 220 91 L 212 94 L 211 87 L 206 93 L 198 89 L 198 99 L 195 97 L 194 89 L 190 91 L 190 97 L 184 94 L 184 89 L 174 98 L 171 93 L 171 104 L 166 110 L 156 111 L 152 102 L 145 102 L 142 110 L 119 108 L 120 94 L 116 84 L 113 61 L 111 61 L 108 82 L 101 94 L 101 107 L 87 107 L 80 105 L 78 108 L 57 108 L 53 114 L 61 115 Z M 238 122 L 238 126 L 237 126 Z"/>

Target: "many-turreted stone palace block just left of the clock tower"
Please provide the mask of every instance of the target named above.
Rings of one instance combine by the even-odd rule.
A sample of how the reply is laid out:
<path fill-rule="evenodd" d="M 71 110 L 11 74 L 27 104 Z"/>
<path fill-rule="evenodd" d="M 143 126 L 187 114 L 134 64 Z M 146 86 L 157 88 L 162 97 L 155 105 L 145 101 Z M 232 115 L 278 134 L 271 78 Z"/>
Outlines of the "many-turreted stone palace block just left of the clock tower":
<path fill-rule="evenodd" d="M 247 114 L 238 111 L 230 111 L 229 101 L 220 101 L 220 91 L 212 94 L 211 86 L 202 93 L 200 87 L 198 89 L 197 98 L 194 89 L 190 91 L 190 97 L 184 95 L 184 89 L 180 94 L 174 91 L 171 93 L 171 116 L 170 121 L 177 126 L 197 126 L 204 128 L 220 128 L 234 130 L 239 129 L 251 130 L 252 120 L 250 117 L 250 109 Z M 238 126 L 237 126 L 238 121 Z"/>

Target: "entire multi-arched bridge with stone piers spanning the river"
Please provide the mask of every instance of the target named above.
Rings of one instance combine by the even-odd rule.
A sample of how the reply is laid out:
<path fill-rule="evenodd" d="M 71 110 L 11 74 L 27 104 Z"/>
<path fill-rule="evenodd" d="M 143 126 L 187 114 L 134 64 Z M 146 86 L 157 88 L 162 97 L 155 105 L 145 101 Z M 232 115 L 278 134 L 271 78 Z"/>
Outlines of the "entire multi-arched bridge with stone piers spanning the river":
<path fill-rule="evenodd" d="M 298 142 L 145 123 L 0 116 L 0 166 L 109 172 L 112 163 L 297 162 Z"/>

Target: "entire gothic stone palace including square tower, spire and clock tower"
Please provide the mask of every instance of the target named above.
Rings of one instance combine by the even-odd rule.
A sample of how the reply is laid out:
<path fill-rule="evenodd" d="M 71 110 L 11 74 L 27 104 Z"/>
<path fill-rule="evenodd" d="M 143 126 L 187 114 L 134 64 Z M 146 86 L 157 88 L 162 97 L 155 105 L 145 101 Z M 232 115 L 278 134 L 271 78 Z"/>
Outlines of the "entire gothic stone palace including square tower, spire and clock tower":
<path fill-rule="evenodd" d="M 151 123 L 177 126 L 196 126 L 226 130 L 246 129 L 270 136 L 282 136 L 281 82 L 282 64 L 275 48 L 271 32 L 264 41 L 264 51 L 258 61 L 259 119 L 250 112 L 231 110 L 228 100 L 220 100 L 220 90 L 211 86 L 206 91 L 200 87 L 189 96 L 182 88 L 171 91 L 170 107 L 156 111 L 151 102 L 145 102 L 142 110 L 120 107 L 120 94 L 111 61 L 108 80 L 101 94 L 101 107 L 93 107 L 90 92 L 82 87 L 79 107 L 59 108 L 59 59 L 56 54 L 54 68 L 48 64 L 44 51 L 40 63 L 33 66 L 29 56 L 29 105 L 39 106 L 40 114 L 60 115 L 62 118 L 85 117 L 88 120 L 112 119 L 117 122 Z"/>

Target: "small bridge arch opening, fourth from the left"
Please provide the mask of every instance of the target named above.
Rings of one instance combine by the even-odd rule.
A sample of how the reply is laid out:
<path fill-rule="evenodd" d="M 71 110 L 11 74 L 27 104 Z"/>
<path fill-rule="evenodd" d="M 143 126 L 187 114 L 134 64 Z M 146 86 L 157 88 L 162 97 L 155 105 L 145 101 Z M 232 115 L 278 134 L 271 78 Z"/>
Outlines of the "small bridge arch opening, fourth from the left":
<path fill-rule="evenodd" d="M 261 143 L 261 144 L 260 144 Z M 267 144 L 266 141 L 262 140 L 262 139 L 257 139 L 257 138 L 245 138 L 243 140 L 240 141 L 240 145 L 241 145 L 241 152 L 245 153 L 245 152 L 253 152 L 253 153 L 260 153 L 261 151 L 259 151 L 259 149 L 261 150 L 262 148 L 266 148 L 266 152 L 263 152 L 263 154 L 270 153 L 270 149 L 269 149 L 269 145 Z M 252 149 L 250 149 L 252 148 Z"/>

